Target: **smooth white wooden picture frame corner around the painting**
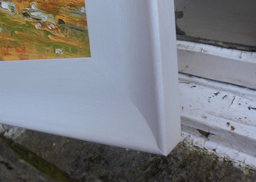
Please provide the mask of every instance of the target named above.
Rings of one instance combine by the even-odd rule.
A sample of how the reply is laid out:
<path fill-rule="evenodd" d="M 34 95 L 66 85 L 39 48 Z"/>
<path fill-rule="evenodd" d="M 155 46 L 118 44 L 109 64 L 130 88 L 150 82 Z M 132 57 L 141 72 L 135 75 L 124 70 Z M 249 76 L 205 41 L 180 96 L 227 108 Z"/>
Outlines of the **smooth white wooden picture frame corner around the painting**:
<path fill-rule="evenodd" d="M 91 58 L 0 61 L 0 123 L 168 155 L 181 139 L 173 0 L 86 0 Z"/>

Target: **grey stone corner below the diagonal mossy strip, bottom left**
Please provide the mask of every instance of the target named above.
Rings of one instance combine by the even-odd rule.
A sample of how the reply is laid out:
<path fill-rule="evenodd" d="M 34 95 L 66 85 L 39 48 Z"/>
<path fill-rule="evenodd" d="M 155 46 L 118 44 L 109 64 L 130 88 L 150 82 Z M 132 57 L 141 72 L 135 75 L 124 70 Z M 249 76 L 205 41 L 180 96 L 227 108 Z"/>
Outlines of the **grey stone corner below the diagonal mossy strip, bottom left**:
<path fill-rule="evenodd" d="M 19 157 L 0 138 L 0 182 L 53 182 Z"/>

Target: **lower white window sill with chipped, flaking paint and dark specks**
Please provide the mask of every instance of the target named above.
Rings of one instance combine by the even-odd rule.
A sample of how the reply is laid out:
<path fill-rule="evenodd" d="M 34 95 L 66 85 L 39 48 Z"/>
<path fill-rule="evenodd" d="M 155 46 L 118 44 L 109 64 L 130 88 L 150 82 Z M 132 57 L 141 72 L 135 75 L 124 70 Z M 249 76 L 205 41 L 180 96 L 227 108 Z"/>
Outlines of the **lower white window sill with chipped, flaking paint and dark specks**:
<path fill-rule="evenodd" d="M 255 168 L 256 91 L 186 74 L 179 74 L 179 80 L 185 140 L 238 165 Z"/>

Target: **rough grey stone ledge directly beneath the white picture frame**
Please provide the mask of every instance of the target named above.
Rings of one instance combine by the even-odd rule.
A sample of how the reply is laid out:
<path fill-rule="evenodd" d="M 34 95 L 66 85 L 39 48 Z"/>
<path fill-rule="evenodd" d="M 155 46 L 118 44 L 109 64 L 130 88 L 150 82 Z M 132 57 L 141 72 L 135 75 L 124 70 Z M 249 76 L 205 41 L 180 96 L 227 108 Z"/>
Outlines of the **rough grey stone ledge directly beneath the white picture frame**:
<path fill-rule="evenodd" d="M 242 171 L 180 143 L 168 157 L 26 130 L 12 142 L 78 182 L 255 182 Z M 16 146 L 18 147 L 18 146 Z M 24 149 L 23 149 L 24 150 Z M 48 164 L 47 164 L 48 165 Z M 58 180 L 57 180 L 58 181 Z"/>

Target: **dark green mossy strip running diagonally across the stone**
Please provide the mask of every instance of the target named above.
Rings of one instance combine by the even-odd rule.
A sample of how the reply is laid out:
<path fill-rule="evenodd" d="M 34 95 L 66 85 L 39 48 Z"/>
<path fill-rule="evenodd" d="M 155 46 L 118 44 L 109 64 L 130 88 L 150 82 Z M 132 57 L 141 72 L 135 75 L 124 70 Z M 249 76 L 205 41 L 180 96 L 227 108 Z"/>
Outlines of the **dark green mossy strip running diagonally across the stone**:
<path fill-rule="evenodd" d="M 42 157 L 39 157 L 36 153 L 30 152 L 26 147 L 23 147 L 11 140 L 6 139 L 3 136 L 5 143 L 11 147 L 11 149 L 16 152 L 24 161 L 30 163 L 33 167 L 37 168 L 39 171 L 45 173 L 51 177 L 55 182 L 75 182 L 67 174 L 61 172 L 53 164 L 45 161 Z"/>

